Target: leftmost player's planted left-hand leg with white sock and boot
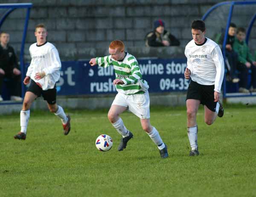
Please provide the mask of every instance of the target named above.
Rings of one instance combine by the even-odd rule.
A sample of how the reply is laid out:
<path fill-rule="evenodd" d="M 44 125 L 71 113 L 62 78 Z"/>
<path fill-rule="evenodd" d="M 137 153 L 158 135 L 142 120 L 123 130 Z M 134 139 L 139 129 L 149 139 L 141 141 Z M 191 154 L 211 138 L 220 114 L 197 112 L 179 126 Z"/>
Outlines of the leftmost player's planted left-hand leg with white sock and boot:
<path fill-rule="evenodd" d="M 26 139 L 26 130 L 29 123 L 29 116 L 30 116 L 30 107 L 33 101 L 35 101 L 37 96 L 32 92 L 26 92 L 22 110 L 20 111 L 20 132 L 14 136 L 15 139 L 18 140 L 25 140 Z"/>

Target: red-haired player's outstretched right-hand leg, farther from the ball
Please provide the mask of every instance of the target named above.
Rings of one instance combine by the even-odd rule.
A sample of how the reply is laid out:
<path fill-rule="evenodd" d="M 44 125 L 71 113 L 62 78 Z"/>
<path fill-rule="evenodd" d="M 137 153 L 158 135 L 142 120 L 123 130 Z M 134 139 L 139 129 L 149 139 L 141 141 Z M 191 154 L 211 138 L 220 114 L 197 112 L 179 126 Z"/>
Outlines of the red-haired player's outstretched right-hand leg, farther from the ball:
<path fill-rule="evenodd" d="M 140 118 L 140 123 L 143 130 L 148 134 L 154 144 L 157 145 L 157 148 L 160 151 L 161 158 L 167 158 L 169 156 L 167 151 L 167 145 L 163 143 L 157 129 L 150 124 L 150 119 Z"/>

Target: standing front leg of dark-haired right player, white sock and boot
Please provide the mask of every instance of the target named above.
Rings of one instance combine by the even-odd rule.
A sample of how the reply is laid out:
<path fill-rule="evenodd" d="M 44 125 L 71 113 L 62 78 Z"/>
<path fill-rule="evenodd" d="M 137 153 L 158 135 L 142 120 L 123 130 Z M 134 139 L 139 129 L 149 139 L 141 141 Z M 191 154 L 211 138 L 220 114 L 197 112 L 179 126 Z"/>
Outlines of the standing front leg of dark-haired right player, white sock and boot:
<path fill-rule="evenodd" d="M 187 108 L 187 127 L 188 127 L 188 137 L 189 143 L 191 146 L 191 151 L 189 152 L 189 156 L 199 155 L 198 152 L 198 126 L 196 123 L 196 115 L 198 113 L 198 107 L 200 105 L 199 100 L 188 99 L 186 100 L 186 108 Z"/>

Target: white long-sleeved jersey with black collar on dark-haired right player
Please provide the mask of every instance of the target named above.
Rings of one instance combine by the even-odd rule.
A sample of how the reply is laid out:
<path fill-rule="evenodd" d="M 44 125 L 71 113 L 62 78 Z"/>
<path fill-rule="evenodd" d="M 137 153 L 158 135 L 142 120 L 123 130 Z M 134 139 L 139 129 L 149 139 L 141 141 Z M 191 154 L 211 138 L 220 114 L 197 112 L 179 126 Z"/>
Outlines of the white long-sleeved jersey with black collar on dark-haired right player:
<path fill-rule="evenodd" d="M 202 85 L 215 85 L 214 91 L 221 92 L 224 78 L 224 60 L 221 49 L 214 41 L 206 38 L 202 45 L 192 39 L 185 48 L 187 67 L 194 82 Z"/>

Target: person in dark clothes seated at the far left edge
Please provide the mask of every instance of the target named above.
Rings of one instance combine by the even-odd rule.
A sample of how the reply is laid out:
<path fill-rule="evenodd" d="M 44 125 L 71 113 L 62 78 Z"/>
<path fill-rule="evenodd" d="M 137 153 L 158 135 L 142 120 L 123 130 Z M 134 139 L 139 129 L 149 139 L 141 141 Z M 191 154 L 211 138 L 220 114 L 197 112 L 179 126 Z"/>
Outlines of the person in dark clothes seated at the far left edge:
<path fill-rule="evenodd" d="M 20 70 L 14 49 L 9 45 L 10 35 L 6 32 L 0 34 L 0 101 L 3 83 L 6 82 L 11 100 L 22 101 L 20 97 Z"/>

